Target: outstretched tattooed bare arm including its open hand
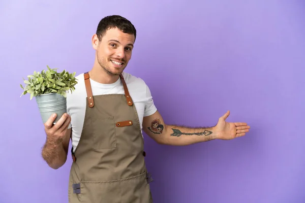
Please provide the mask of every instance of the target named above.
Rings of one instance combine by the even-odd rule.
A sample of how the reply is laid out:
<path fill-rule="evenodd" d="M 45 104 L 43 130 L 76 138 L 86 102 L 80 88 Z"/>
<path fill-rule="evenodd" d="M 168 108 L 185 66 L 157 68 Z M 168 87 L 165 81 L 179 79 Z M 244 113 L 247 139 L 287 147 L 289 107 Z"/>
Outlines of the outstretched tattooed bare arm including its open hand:
<path fill-rule="evenodd" d="M 143 118 L 143 130 L 157 143 L 164 145 L 191 145 L 215 139 L 231 140 L 245 136 L 250 126 L 247 123 L 228 123 L 225 119 L 229 111 L 219 118 L 216 126 L 191 128 L 176 125 L 166 125 L 157 111 L 151 116 Z"/>

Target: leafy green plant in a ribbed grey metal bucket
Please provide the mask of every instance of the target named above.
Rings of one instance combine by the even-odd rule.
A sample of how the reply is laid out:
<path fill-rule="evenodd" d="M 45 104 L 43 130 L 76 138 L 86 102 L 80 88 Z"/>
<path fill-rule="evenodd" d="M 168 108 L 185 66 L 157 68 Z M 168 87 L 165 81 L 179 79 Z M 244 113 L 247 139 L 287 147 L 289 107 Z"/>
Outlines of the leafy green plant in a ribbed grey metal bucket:
<path fill-rule="evenodd" d="M 48 65 L 47 68 L 47 71 L 43 70 L 41 73 L 34 71 L 33 75 L 27 76 L 28 80 L 23 78 L 25 86 L 20 84 L 23 89 L 21 96 L 29 93 L 31 100 L 33 97 L 36 98 L 43 123 L 53 113 L 57 114 L 54 120 L 56 123 L 67 112 L 67 93 L 69 90 L 71 93 L 75 90 L 77 79 L 75 72 L 69 74 L 68 71 L 64 70 L 57 73 L 57 69 L 50 69 Z"/>

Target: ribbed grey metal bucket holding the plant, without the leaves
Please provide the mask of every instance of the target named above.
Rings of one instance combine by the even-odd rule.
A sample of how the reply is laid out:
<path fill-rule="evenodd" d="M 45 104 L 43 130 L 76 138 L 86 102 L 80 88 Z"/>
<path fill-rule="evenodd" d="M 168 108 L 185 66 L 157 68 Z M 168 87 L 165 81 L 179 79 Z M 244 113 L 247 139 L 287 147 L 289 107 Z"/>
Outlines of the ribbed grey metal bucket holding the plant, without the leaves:
<path fill-rule="evenodd" d="M 43 123 L 45 123 L 52 116 L 52 114 L 55 113 L 57 114 L 57 117 L 53 122 L 55 124 L 60 117 L 67 112 L 67 98 L 60 94 L 41 94 L 39 96 L 35 96 L 35 98 Z"/>

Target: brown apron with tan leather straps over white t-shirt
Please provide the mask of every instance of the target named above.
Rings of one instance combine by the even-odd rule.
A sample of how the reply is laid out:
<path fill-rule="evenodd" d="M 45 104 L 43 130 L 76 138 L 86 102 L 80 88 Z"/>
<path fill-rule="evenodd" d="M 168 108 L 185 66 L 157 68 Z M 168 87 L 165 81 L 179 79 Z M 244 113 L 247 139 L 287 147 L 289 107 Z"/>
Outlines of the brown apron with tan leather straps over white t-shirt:
<path fill-rule="evenodd" d="M 84 74 L 86 111 L 70 171 L 70 203 L 151 203 L 139 117 L 124 94 L 92 95 Z"/>

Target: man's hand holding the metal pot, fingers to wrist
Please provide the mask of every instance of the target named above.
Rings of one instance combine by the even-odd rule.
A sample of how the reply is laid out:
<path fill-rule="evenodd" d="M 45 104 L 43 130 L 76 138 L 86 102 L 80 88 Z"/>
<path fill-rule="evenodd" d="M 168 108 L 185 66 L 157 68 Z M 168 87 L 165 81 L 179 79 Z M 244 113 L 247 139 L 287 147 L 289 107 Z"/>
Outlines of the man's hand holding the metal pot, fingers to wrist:
<path fill-rule="evenodd" d="M 56 123 L 53 124 L 57 115 L 53 114 L 50 118 L 45 122 L 45 132 L 47 134 L 47 140 L 52 143 L 60 143 L 66 136 L 66 132 L 68 126 L 71 122 L 71 116 L 65 113 Z"/>

